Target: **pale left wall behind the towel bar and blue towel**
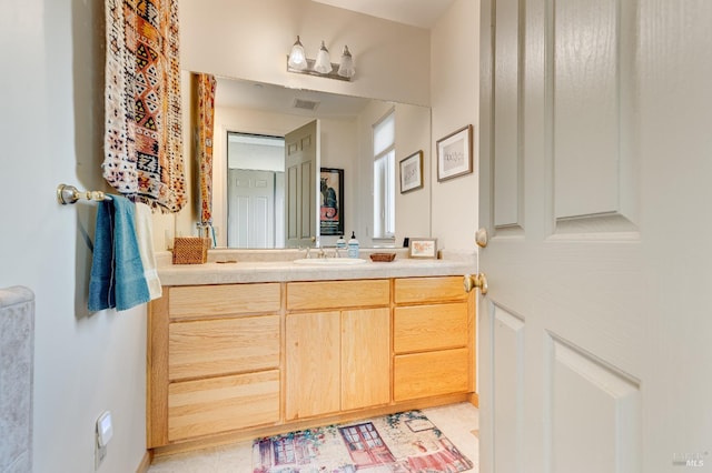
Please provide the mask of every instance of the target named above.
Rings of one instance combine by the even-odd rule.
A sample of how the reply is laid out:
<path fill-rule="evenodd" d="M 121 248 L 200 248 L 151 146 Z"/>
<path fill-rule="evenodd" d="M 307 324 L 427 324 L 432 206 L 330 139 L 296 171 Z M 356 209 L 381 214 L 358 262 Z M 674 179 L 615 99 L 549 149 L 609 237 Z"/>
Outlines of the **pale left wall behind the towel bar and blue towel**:
<path fill-rule="evenodd" d="M 60 182 L 103 189 L 101 3 L 0 3 L 0 286 L 37 298 L 38 473 L 93 472 L 107 409 L 115 436 L 99 472 L 136 471 L 145 453 L 146 310 L 86 313 L 93 204 L 55 199 Z"/>

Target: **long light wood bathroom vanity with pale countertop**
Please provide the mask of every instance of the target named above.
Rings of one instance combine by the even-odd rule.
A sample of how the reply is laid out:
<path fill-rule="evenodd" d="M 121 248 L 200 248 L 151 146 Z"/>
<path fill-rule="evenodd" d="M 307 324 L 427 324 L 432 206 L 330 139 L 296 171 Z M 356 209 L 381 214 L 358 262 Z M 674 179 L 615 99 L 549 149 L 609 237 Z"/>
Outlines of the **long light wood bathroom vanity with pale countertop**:
<path fill-rule="evenodd" d="M 148 319 L 148 447 L 476 404 L 469 272 L 467 260 L 162 265 Z"/>

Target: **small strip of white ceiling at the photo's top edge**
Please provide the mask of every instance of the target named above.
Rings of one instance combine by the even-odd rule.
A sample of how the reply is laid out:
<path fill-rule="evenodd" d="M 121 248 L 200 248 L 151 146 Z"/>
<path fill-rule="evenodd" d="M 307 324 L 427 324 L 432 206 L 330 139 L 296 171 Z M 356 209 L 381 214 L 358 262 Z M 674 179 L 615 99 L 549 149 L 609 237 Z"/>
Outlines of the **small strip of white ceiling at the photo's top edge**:
<path fill-rule="evenodd" d="M 313 0 L 413 27 L 432 29 L 455 0 Z"/>

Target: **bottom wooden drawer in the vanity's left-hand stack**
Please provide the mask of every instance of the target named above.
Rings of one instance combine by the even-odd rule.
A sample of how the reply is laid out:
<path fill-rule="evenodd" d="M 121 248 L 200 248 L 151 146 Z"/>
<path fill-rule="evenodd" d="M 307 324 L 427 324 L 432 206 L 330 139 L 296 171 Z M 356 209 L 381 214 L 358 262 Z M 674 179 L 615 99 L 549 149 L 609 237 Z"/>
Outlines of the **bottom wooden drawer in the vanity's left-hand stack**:
<path fill-rule="evenodd" d="M 279 371 L 170 383 L 170 442 L 279 421 Z"/>

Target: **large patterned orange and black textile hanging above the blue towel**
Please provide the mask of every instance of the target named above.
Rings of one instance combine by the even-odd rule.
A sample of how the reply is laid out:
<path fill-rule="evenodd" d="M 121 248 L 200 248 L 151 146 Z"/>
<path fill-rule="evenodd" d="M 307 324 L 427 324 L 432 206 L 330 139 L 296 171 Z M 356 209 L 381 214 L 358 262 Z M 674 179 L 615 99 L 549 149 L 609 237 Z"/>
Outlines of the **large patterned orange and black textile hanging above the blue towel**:
<path fill-rule="evenodd" d="M 178 0 L 106 0 L 103 178 L 162 212 L 186 203 Z"/>

